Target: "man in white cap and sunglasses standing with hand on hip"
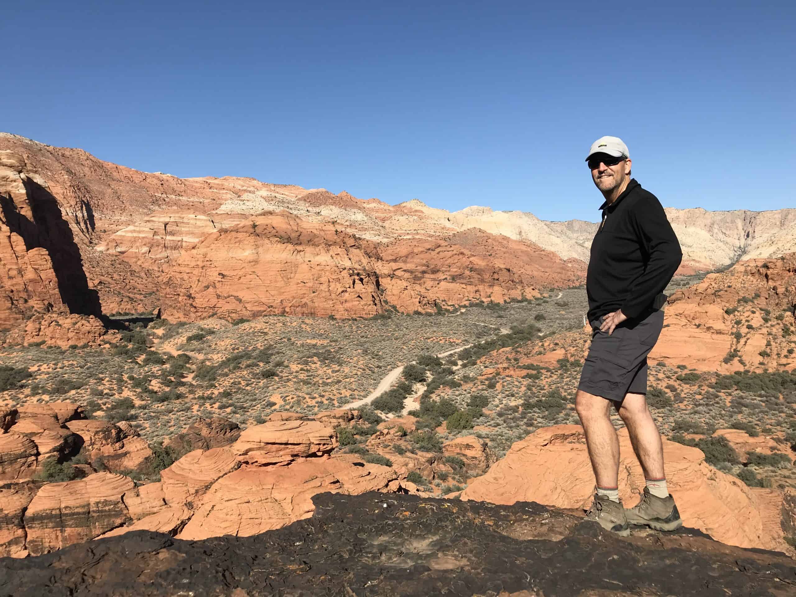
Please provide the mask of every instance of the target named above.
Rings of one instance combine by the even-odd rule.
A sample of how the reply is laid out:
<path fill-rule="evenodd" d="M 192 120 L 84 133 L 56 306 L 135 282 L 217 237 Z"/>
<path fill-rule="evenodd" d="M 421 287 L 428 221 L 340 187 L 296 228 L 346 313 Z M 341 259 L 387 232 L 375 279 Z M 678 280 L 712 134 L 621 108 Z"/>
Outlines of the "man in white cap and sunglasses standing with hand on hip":
<path fill-rule="evenodd" d="M 661 203 L 630 178 L 622 139 L 597 139 L 586 161 L 605 197 L 586 277 L 591 347 L 576 394 L 597 482 L 587 518 L 622 537 L 630 534 L 629 523 L 672 531 L 682 521 L 666 486 L 661 435 L 646 405 L 646 357 L 661 334 L 662 291 L 680 265 L 680 243 Z M 646 478 L 641 501 L 627 510 L 618 495 L 611 404 L 630 432 Z"/>

